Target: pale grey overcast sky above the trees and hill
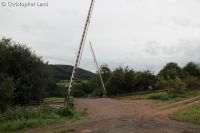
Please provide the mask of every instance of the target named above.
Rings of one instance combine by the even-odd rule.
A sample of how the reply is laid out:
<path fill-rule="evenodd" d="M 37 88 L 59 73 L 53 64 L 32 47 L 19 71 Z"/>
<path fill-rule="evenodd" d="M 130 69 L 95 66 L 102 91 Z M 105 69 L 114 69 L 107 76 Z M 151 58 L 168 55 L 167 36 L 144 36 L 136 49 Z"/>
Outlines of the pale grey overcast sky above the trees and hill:
<path fill-rule="evenodd" d="M 38 2 L 48 7 L 0 5 L 0 38 L 28 45 L 50 64 L 73 65 L 90 0 Z M 200 0 L 96 0 L 81 62 L 95 70 L 89 40 L 99 64 L 112 68 L 157 72 L 167 62 L 200 62 Z"/>

